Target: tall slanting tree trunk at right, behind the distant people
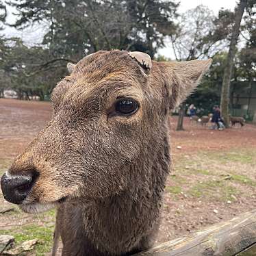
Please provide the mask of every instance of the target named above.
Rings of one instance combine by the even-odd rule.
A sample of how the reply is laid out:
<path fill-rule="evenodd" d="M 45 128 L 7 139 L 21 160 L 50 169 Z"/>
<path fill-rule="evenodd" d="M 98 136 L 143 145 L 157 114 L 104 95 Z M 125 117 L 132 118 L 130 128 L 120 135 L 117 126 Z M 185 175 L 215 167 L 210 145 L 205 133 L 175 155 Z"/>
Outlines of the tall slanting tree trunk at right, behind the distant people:
<path fill-rule="evenodd" d="M 240 33 L 240 23 L 244 14 L 244 8 L 246 8 L 247 0 L 240 0 L 238 8 L 235 10 L 235 24 L 233 26 L 231 42 L 229 46 L 229 53 L 227 55 L 226 67 L 224 70 L 224 76 L 222 81 L 220 108 L 221 114 L 225 120 L 226 127 L 229 127 L 229 98 L 230 98 L 230 80 L 233 70 L 233 62 L 235 57 L 235 46 L 238 42 L 238 36 Z"/>

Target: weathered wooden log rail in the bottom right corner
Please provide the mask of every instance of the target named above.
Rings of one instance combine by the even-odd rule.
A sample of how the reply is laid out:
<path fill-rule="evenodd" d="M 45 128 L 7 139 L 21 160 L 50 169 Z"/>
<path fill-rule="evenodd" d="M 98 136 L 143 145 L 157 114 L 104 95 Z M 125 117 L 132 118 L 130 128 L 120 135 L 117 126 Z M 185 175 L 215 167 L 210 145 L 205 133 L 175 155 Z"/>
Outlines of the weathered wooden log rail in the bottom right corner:
<path fill-rule="evenodd" d="M 165 242 L 137 256 L 256 255 L 256 210 L 227 222 Z"/>

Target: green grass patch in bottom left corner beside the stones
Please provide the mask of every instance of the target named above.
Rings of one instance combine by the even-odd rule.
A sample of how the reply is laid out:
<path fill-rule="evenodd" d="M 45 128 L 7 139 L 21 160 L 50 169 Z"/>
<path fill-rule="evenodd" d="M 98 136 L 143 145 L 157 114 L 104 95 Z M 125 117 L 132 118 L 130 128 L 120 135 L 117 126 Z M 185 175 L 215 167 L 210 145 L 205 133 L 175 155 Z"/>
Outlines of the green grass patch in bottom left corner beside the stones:
<path fill-rule="evenodd" d="M 37 239 L 38 244 L 35 246 L 35 255 L 43 256 L 45 253 L 51 251 L 53 243 L 53 230 L 54 226 L 40 227 L 38 225 L 26 225 L 23 226 L 20 231 L 0 230 L 0 235 L 13 235 L 15 238 L 15 244 L 21 244 L 27 240 Z"/>

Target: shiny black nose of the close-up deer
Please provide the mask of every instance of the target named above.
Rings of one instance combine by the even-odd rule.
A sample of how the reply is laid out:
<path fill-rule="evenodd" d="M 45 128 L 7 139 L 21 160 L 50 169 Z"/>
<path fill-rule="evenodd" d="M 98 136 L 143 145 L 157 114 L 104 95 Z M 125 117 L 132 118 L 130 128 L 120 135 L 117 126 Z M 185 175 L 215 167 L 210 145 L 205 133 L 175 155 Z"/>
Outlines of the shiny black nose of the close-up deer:
<path fill-rule="evenodd" d="M 26 198 L 33 185 L 32 173 L 26 175 L 9 175 L 1 177 L 1 189 L 5 200 L 19 205 Z"/>

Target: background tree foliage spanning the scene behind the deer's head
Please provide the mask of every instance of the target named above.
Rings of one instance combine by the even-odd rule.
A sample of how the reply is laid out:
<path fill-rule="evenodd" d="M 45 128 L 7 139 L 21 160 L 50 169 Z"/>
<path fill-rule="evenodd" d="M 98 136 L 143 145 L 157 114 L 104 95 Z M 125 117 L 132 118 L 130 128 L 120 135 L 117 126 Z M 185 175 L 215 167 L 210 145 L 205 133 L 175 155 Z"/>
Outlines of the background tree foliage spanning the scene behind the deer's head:
<path fill-rule="evenodd" d="M 6 5 L 16 9 L 16 22 L 6 24 Z M 74 8 L 75 6 L 75 8 Z M 256 77 L 256 2 L 248 1 L 235 57 L 231 97 L 235 91 L 252 94 Z M 21 38 L 0 37 L 0 97 L 12 89 L 18 99 L 49 99 L 66 75 L 66 63 L 77 62 L 99 49 L 145 51 L 152 58 L 166 40 L 176 60 L 212 57 L 214 62 L 199 90 L 188 99 L 206 114 L 220 103 L 222 76 L 231 38 L 234 12 L 218 16 L 203 5 L 179 13 L 175 0 L 10 0 L 0 2 L 0 29 L 44 26 L 42 42 L 28 46 Z M 231 108 L 235 107 L 231 101 Z"/>

